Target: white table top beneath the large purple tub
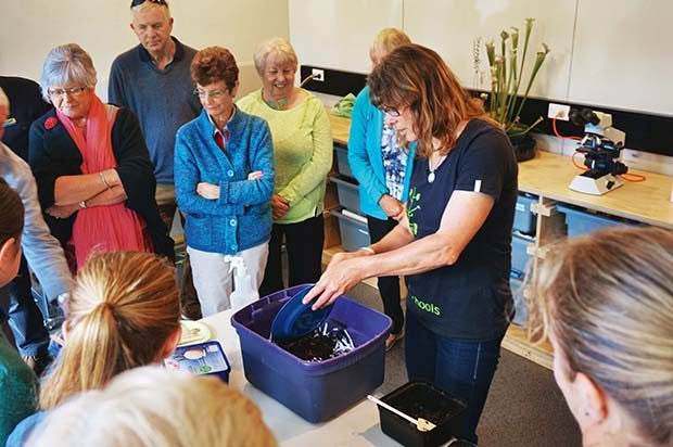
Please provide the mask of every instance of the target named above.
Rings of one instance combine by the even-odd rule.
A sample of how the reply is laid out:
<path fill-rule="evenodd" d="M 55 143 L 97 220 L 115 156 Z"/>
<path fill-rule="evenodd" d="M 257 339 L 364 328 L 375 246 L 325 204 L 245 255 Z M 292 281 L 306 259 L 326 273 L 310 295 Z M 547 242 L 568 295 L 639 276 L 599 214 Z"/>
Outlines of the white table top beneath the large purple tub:
<path fill-rule="evenodd" d="M 281 446 L 399 446 L 397 442 L 381 432 L 379 410 L 367 399 L 328 422 L 313 424 L 251 385 L 243 373 L 241 345 L 231 325 L 231 310 L 225 310 L 204 318 L 201 322 L 211 329 L 213 340 L 221 344 L 227 355 L 231 366 L 229 385 L 243 392 L 259 407 L 264 422 L 274 432 Z"/>

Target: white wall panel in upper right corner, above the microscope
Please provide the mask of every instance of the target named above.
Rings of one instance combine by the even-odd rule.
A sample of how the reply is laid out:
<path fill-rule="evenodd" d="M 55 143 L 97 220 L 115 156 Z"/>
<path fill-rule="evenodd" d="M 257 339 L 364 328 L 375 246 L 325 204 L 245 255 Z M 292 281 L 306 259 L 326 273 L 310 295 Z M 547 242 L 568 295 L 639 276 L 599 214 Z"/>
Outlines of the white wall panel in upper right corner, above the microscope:
<path fill-rule="evenodd" d="M 569 97 L 673 115 L 673 1 L 581 0 Z"/>

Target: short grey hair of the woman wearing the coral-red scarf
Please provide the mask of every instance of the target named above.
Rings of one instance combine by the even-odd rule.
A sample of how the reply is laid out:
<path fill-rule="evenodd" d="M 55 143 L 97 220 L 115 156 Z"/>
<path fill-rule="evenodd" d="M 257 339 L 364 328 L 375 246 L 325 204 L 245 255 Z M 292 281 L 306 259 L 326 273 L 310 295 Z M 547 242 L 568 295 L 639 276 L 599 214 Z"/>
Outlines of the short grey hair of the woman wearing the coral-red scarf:
<path fill-rule="evenodd" d="M 77 82 L 93 90 L 97 81 L 91 56 L 77 43 L 56 47 L 45 59 L 40 88 L 47 102 L 51 102 L 49 88 L 52 86 Z"/>

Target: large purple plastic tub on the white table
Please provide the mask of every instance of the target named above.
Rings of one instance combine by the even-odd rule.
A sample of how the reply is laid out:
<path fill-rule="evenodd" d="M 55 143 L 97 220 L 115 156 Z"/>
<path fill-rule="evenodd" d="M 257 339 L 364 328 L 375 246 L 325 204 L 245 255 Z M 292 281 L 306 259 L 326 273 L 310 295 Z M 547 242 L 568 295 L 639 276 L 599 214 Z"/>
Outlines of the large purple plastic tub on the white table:
<path fill-rule="evenodd" d="M 231 317 L 241 342 L 245 379 L 308 422 L 331 419 L 381 386 L 385 315 L 341 296 L 328 318 L 344 325 L 355 344 L 348 354 L 325 361 L 304 361 L 269 341 L 271 322 L 282 305 L 305 285 L 261 298 Z"/>

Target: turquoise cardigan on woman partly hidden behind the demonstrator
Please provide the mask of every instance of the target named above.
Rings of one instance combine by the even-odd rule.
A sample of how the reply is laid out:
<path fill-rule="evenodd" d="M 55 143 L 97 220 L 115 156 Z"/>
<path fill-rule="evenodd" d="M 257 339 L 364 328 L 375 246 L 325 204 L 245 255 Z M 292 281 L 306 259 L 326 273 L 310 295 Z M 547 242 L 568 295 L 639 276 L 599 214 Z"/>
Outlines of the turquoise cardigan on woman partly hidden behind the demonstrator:
<path fill-rule="evenodd" d="M 348 136 L 348 164 L 360 183 L 360 209 L 369 216 L 385 220 L 388 216 L 379 205 L 381 196 L 389 193 L 381 153 L 383 113 L 371 104 L 369 87 L 365 87 L 357 95 L 353 107 L 351 135 Z M 402 202 L 406 202 L 409 193 L 415 153 L 416 143 L 409 148 Z"/>

